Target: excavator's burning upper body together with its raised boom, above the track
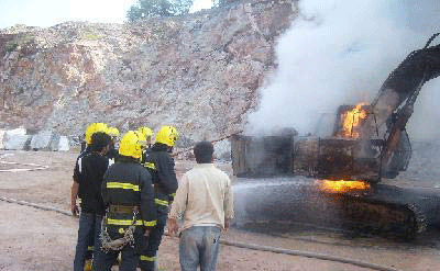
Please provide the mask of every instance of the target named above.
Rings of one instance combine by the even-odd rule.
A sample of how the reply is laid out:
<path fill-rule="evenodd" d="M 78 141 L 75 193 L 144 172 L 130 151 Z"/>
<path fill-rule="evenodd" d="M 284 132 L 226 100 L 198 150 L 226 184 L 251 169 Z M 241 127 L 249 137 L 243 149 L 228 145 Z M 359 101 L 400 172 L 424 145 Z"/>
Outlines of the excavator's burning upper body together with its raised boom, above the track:
<path fill-rule="evenodd" d="M 370 105 L 341 105 L 331 136 L 232 137 L 235 174 L 306 174 L 369 182 L 397 177 L 411 155 L 405 127 L 414 103 L 422 86 L 440 75 L 440 45 L 429 46 L 439 34 L 391 72 Z M 349 132 L 346 120 L 352 125 Z"/>

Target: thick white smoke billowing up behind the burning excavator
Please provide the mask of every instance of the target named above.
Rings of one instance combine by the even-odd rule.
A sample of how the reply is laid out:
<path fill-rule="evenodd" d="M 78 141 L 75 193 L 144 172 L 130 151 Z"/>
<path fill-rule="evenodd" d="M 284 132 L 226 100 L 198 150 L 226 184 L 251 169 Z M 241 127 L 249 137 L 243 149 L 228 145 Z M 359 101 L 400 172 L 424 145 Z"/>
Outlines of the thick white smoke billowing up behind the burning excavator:
<path fill-rule="evenodd" d="M 437 0 L 300 1 L 300 18 L 279 41 L 278 70 L 262 89 L 248 132 L 314 133 L 322 113 L 371 102 L 389 72 L 440 31 L 439 14 Z M 413 138 L 440 135 L 438 104 L 440 78 L 419 95 L 408 125 Z"/>

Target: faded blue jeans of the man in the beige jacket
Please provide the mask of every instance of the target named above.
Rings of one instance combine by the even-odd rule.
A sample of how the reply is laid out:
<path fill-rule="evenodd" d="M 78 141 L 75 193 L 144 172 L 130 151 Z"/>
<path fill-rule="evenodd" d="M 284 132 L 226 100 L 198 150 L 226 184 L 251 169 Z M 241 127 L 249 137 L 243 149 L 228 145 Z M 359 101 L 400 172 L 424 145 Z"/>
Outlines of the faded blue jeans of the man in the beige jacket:
<path fill-rule="evenodd" d="M 216 226 L 193 226 L 182 232 L 179 261 L 182 271 L 216 271 L 221 229 Z"/>

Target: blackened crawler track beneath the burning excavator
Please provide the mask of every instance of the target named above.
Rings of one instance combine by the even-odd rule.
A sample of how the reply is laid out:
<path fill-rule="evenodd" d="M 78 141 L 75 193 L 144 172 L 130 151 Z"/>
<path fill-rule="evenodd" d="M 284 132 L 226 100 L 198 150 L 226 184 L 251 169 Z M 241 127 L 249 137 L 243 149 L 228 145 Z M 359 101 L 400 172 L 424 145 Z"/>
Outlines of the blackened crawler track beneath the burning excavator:
<path fill-rule="evenodd" d="M 362 192 L 332 194 L 342 208 L 344 227 L 358 233 L 414 239 L 440 225 L 440 194 L 375 184 Z"/>

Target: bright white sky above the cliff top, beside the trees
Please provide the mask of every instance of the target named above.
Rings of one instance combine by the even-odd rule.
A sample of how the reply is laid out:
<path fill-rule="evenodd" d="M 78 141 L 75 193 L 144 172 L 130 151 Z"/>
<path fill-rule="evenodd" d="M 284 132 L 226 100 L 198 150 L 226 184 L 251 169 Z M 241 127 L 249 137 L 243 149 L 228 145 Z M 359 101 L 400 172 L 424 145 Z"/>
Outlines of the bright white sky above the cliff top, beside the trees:
<path fill-rule="evenodd" d="M 0 29 L 14 24 L 50 27 L 66 21 L 123 23 L 138 0 L 0 0 Z M 211 0 L 195 0 L 191 11 L 210 8 Z"/>

